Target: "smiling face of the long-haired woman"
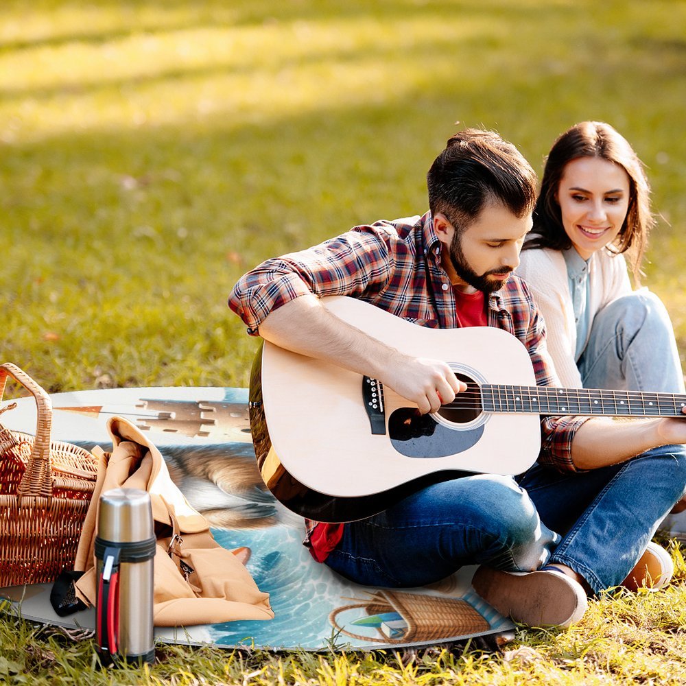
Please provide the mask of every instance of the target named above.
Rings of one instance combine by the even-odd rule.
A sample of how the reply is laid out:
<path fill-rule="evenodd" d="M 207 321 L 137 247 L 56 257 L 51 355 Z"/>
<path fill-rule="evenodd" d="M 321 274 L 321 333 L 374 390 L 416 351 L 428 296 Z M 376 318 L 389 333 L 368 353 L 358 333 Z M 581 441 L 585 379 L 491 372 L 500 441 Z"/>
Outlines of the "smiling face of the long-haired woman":
<path fill-rule="evenodd" d="M 629 176 L 601 157 L 578 157 L 565 166 L 556 195 L 562 223 L 576 252 L 589 259 L 622 230 L 629 208 Z"/>

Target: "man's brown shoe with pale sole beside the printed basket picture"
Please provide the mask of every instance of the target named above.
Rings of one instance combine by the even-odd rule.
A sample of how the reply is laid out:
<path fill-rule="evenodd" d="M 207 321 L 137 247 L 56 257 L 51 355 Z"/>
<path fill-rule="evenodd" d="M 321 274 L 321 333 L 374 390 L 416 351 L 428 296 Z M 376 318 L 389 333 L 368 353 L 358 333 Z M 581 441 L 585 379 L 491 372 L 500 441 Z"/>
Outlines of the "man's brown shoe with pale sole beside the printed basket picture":
<path fill-rule="evenodd" d="M 569 626 L 589 606 L 581 584 L 563 572 L 517 573 L 479 567 L 472 586 L 501 615 L 529 626 Z"/>

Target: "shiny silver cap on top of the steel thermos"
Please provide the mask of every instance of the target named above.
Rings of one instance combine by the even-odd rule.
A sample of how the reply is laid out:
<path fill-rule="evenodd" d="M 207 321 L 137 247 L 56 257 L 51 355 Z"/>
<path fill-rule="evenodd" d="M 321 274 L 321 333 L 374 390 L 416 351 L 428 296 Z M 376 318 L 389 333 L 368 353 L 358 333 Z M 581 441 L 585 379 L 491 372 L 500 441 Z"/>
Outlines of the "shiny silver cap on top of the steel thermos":
<path fill-rule="evenodd" d="M 140 488 L 113 488 L 100 496 L 97 536 L 115 543 L 154 536 L 150 494 Z"/>

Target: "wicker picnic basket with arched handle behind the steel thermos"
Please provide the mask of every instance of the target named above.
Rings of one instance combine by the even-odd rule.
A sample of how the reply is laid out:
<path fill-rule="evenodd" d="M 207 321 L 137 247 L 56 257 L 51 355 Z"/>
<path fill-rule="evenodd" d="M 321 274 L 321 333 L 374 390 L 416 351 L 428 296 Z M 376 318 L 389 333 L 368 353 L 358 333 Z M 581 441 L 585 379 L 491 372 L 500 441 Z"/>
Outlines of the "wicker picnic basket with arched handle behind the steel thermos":
<path fill-rule="evenodd" d="M 51 582 L 73 565 L 97 474 L 87 450 L 51 442 L 49 397 L 11 362 L 0 365 L 0 400 L 7 377 L 33 394 L 38 414 L 35 437 L 0 424 L 0 587 Z"/>

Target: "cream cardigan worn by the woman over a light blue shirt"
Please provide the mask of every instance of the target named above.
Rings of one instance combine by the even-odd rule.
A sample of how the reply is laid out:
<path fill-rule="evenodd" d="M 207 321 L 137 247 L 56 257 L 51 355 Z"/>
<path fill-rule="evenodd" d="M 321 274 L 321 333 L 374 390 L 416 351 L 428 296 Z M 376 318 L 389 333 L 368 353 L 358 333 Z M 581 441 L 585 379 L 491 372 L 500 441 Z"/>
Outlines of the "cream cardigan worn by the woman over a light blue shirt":
<path fill-rule="evenodd" d="M 536 248 L 522 250 L 517 274 L 521 276 L 539 305 L 547 346 L 563 386 L 580 388 L 581 375 L 574 359 L 576 353 L 576 324 L 569 293 L 567 263 L 560 250 Z M 590 311 L 589 322 L 611 300 L 631 292 L 631 283 L 622 255 L 599 250 L 589 261 Z M 589 330 L 590 330 L 589 326 Z"/>

